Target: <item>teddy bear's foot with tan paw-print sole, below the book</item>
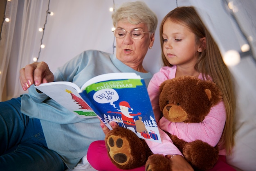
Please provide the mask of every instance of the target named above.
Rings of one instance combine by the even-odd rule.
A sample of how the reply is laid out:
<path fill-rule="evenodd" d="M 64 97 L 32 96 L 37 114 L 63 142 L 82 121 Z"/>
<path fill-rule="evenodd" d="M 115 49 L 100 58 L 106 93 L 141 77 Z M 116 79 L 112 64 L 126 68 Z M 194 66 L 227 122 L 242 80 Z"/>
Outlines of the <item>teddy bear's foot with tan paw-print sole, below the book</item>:
<path fill-rule="evenodd" d="M 119 169 L 141 167 L 152 154 L 144 140 L 123 127 L 117 127 L 108 132 L 105 144 L 110 160 Z"/>

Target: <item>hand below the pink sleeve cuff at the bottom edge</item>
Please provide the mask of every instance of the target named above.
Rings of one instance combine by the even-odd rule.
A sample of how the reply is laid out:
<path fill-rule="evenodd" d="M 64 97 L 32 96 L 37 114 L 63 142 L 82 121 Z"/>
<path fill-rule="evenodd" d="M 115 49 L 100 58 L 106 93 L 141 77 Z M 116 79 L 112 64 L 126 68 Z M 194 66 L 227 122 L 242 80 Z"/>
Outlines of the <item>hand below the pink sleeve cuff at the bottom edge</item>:
<path fill-rule="evenodd" d="M 173 171 L 193 171 L 194 169 L 191 165 L 185 160 L 185 158 L 181 155 L 173 156 L 166 155 L 166 158 L 172 161 L 172 170 Z"/>

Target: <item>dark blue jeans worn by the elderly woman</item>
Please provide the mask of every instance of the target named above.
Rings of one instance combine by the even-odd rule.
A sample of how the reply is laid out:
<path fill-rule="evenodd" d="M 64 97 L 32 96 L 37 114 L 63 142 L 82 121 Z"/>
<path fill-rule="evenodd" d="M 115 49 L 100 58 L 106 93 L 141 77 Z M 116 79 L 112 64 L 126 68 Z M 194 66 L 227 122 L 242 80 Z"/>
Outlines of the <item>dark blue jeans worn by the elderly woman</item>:
<path fill-rule="evenodd" d="M 65 169 L 61 157 L 47 148 L 40 120 L 20 112 L 20 98 L 0 102 L 0 170 Z"/>

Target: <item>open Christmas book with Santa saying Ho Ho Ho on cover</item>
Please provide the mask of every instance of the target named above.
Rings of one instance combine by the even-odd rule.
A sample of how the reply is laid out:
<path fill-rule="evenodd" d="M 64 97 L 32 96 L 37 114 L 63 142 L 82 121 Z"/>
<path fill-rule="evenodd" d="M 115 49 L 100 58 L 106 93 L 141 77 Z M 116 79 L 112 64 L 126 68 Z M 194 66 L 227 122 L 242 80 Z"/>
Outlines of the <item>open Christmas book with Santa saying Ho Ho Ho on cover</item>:
<path fill-rule="evenodd" d="M 109 123 L 115 121 L 139 138 L 162 143 L 144 79 L 135 73 L 99 75 L 81 89 L 66 81 L 36 88 L 79 117 L 99 117 L 110 129 Z"/>

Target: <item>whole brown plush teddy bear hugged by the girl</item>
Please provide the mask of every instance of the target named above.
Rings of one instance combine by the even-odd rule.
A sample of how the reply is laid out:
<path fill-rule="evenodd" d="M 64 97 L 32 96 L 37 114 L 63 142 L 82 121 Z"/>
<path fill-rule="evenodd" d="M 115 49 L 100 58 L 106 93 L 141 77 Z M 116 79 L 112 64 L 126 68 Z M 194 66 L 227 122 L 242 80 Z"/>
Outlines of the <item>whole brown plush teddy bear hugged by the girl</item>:
<path fill-rule="evenodd" d="M 211 107 L 222 100 L 222 92 L 210 80 L 192 76 L 164 81 L 159 87 L 159 108 L 163 117 L 171 122 L 200 123 Z M 218 160 L 218 145 L 212 147 L 202 140 L 186 142 L 176 135 L 170 136 L 173 144 L 195 170 L 208 170 Z M 171 160 L 153 154 L 144 139 L 123 127 L 106 134 L 108 157 L 119 169 L 134 169 L 145 164 L 146 171 L 171 170 Z"/>

